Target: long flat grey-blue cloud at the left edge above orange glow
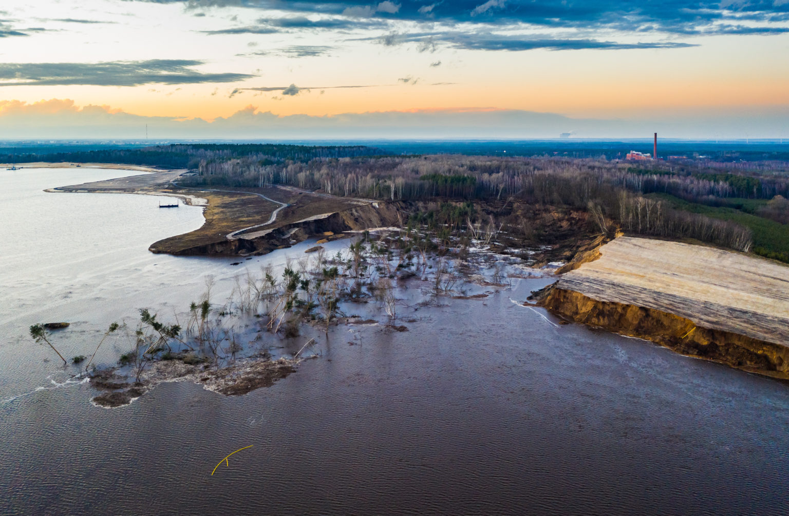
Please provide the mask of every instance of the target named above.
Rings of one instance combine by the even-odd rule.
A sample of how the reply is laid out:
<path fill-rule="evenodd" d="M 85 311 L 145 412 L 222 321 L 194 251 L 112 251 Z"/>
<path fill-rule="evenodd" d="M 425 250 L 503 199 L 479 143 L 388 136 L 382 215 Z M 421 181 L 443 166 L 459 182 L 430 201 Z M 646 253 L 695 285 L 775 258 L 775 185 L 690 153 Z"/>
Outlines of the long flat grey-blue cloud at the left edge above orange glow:
<path fill-rule="evenodd" d="M 203 64 L 204 61 L 186 59 L 103 63 L 0 63 L 0 86 L 230 83 L 254 77 L 244 73 L 204 73 L 193 69 Z"/>

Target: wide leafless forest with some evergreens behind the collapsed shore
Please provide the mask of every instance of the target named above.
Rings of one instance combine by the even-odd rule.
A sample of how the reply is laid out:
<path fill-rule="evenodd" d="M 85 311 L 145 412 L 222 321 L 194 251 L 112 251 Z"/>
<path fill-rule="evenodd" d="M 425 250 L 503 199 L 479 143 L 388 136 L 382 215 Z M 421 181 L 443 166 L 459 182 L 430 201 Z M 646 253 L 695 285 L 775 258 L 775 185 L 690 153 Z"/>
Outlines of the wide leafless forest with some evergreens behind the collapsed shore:
<path fill-rule="evenodd" d="M 268 164 L 252 158 L 200 161 L 193 185 L 262 187 L 288 184 L 331 195 L 366 199 L 518 199 L 589 210 L 600 228 L 615 222 L 626 232 L 690 238 L 753 251 L 789 262 L 785 199 L 789 174 L 712 169 L 655 161 L 648 168 L 623 161 L 570 158 L 499 158 L 461 155 L 316 158 Z M 742 217 L 693 206 L 749 206 Z M 732 212 L 739 212 L 729 207 Z M 708 210 L 709 211 L 709 210 Z M 761 222 L 776 238 L 765 238 Z M 753 247 L 753 231 L 760 231 Z"/>

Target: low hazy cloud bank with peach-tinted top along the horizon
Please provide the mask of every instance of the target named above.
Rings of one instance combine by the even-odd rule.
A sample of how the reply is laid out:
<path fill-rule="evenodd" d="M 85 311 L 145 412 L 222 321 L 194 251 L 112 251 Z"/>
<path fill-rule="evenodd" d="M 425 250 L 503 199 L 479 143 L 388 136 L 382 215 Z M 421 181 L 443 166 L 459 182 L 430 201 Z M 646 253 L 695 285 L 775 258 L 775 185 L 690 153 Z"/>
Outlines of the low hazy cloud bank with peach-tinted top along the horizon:
<path fill-rule="evenodd" d="M 785 110 L 784 110 L 785 111 Z M 716 115 L 664 121 L 574 119 L 524 110 L 413 110 L 343 113 L 331 117 L 280 117 L 247 106 L 214 121 L 141 117 L 109 106 L 76 106 L 68 99 L 28 104 L 0 101 L 0 139 L 503 139 L 638 138 L 660 132 L 667 138 L 776 137 L 785 131 L 786 112 L 749 117 Z M 714 130 L 712 129 L 714 127 Z"/>

